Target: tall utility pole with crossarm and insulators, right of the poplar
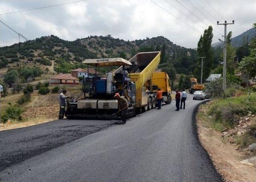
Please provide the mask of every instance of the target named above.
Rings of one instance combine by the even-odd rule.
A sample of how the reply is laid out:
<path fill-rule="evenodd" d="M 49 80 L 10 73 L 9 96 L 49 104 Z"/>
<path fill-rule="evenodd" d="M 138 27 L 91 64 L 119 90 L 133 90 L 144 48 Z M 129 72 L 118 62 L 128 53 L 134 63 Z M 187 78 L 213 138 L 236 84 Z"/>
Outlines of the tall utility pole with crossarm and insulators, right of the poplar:
<path fill-rule="evenodd" d="M 217 25 L 224 25 L 224 49 L 223 49 L 223 91 L 226 91 L 226 65 L 227 65 L 227 25 L 234 24 L 235 21 L 233 20 L 232 23 L 227 23 L 225 20 L 224 24 L 219 24 L 217 21 Z"/>

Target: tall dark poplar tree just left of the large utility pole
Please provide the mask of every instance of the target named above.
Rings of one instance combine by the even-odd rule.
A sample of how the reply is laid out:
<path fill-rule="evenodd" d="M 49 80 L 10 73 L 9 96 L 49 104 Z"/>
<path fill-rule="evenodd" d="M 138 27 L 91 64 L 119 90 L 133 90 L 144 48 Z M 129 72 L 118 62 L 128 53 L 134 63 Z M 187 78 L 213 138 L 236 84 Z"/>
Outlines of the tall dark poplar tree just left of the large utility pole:
<path fill-rule="evenodd" d="M 204 30 L 204 35 L 200 37 L 197 45 L 197 51 L 198 55 L 200 57 L 206 57 L 203 71 L 203 80 L 206 79 L 210 73 L 210 70 L 212 68 L 213 63 L 213 49 L 212 49 L 212 26 L 209 26 L 208 29 Z M 194 74 L 197 77 L 200 77 L 201 74 L 201 68 L 199 67 L 201 65 L 201 59 L 198 59 L 198 67 L 194 70 Z"/>

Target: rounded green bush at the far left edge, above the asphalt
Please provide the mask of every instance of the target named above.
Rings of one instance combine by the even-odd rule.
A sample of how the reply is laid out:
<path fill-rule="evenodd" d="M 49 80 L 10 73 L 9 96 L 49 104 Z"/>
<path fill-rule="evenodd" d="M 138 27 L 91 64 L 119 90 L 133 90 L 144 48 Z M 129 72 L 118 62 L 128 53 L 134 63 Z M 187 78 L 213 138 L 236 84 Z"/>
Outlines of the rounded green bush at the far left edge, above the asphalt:
<path fill-rule="evenodd" d="M 19 106 L 12 106 L 6 108 L 4 113 L 2 114 L 2 121 L 3 123 L 6 123 L 8 119 L 16 120 L 16 121 L 22 121 L 22 114 L 23 109 Z"/>

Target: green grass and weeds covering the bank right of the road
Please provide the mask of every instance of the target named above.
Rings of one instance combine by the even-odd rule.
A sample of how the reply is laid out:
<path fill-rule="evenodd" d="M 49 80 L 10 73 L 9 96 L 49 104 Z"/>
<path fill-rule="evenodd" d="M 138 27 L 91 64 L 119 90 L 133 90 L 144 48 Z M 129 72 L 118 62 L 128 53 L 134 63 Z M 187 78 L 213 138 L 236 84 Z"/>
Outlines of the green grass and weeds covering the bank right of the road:
<path fill-rule="evenodd" d="M 203 121 L 204 127 L 223 132 L 238 125 L 240 117 L 247 116 L 248 113 L 255 114 L 255 103 L 256 93 L 251 95 L 243 93 L 228 99 L 213 99 L 200 107 L 197 116 L 200 121 Z M 236 144 L 242 147 L 256 142 L 256 124 L 246 130 L 242 135 L 234 137 Z"/>

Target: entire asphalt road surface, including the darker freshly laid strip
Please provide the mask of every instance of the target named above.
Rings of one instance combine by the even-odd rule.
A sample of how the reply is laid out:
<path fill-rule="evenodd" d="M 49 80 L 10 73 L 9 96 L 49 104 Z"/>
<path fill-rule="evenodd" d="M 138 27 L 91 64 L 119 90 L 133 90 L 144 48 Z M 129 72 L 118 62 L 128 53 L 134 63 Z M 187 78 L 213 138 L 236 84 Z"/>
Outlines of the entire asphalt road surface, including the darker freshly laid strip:
<path fill-rule="evenodd" d="M 220 182 L 192 119 L 200 102 L 189 95 L 184 110 L 172 102 L 125 125 L 61 120 L 0 132 L 0 181 Z"/>

